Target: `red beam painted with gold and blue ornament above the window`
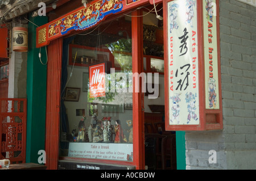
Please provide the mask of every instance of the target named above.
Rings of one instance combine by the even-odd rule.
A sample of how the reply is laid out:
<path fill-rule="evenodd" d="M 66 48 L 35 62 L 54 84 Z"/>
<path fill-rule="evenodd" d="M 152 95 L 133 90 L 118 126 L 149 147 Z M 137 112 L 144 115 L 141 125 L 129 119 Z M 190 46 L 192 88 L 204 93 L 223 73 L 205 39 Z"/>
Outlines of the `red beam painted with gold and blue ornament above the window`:
<path fill-rule="evenodd" d="M 72 31 L 86 30 L 95 26 L 110 14 L 117 14 L 144 2 L 147 2 L 147 0 L 93 1 L 87 7 L 82 6 L 44 26 L 38 27 L 36 29 L 36 47 L 39 48 L 48 45 L 49 41 Z M 44 28 L 46 28 L 46 31 Z"/>

